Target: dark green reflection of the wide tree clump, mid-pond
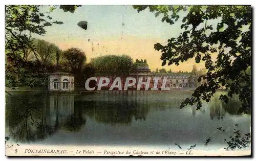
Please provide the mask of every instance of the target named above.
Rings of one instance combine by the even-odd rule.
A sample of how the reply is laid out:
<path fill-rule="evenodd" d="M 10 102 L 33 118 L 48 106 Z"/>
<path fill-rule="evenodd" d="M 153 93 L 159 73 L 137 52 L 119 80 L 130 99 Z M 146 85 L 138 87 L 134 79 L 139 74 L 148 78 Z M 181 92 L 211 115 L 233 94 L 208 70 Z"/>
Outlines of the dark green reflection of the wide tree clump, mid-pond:
<path fill-rule="evenodd" d="M 97 100 L 81 99 L 81 104 L 86 107 L 87 116 L 99 123 L 131 125 L 133 120 L 146 120 L 149 103 L 142 95 L 124 91 L 107 94 L 103 91 L 101 98 Z"/>

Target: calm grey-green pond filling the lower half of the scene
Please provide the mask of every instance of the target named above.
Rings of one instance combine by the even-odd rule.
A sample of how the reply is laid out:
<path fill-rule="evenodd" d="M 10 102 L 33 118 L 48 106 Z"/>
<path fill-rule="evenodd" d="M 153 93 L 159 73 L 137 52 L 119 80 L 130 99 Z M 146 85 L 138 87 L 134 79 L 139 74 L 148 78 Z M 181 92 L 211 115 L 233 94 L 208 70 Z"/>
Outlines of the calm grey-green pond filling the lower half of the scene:
<path fill-rule="evenodd" d="M 6 136 L 19 144 L 226 147 L 239 125 L 250 132 L 250 115 L 219 100 L 179 108 L 189 91 L 100 91 L 82 95 L 6 95 Z M 211 141 L 205 147 L 206 139 Z"/>

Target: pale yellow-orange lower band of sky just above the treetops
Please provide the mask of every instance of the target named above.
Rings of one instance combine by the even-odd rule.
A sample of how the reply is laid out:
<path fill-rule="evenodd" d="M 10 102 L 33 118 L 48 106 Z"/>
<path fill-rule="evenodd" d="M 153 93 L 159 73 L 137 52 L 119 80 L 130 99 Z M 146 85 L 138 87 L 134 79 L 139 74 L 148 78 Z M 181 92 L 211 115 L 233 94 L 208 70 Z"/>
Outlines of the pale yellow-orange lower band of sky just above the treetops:
<path fill-rule="evenodd" d="M 166 70 L 171 69 L 173 72 L 188 71 L 192 70 L 192 67 L 195 63 L 195 59 L 190 59 L 186 62 L 180 63 L 179 66 L 176 65 L 164 65 L 161 66 L 162 61 L 160 60 L 161 52 L 154 49 L 154 44 L 157 42 L 164 43 L 164 39 L 143 39 L 137 38 L 135 36 L 125 36 L 121 38 L 113 38 L 108 41 L 100 40 L 65 40 L 65 41 L 52 41 L 51 38 L 45 38 L 45 40 L 55 43 L 61 50 L 67 50 L 69 48 L 79 48 L 87 56 L 87 63 L 90 62 L 91 58 L 95 58 L 103 55 L 122 55 L 126 54 L 136 59 L 146 59 L 147 63 L 152 71 L 155 71 L 156 68 L 165 68 Z M 92 51 L 92 48 L 94 51 Z M 204 62 L 197 64 L 198 68 L 204 67 Z"/>

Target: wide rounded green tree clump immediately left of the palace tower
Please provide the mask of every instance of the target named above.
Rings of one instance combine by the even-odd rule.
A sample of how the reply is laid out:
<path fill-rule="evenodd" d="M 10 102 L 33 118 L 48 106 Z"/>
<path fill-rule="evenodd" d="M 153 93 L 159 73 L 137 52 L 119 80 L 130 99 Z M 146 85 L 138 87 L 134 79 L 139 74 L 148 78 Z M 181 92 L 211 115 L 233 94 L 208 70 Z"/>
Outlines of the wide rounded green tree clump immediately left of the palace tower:
<path fill-rule="evenodd" d="M 106 55 L 97 57 L 91 60 L 94 65 L 96 74 L 115 75 L 115 76 L 129 76 L 133 69 L 133 59 L 127 55 Z"/>

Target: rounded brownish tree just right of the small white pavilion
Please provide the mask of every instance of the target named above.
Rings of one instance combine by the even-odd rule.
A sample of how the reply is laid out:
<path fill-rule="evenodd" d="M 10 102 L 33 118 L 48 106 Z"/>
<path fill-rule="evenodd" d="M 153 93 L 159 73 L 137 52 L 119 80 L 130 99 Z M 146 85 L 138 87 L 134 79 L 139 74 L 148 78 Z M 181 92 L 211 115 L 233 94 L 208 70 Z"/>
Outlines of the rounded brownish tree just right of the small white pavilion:
<path fill-rule="evenodd" d="M 86 62 L 86 54 L 78 48 L 70 48 L 63 51 L 62 58 L 72 72 L 81 71 Z"/>

